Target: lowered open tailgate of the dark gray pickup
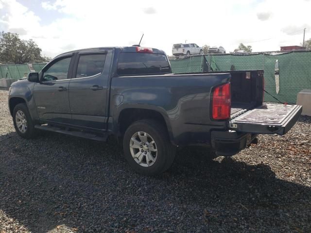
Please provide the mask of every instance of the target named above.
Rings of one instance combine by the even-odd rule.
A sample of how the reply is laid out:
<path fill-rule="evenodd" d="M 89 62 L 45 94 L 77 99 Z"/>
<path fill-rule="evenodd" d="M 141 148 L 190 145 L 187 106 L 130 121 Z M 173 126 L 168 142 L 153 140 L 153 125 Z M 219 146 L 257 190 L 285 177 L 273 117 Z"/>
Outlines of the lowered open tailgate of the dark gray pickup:
<path fill-rule="evenodd" d="M 245 133 L 287 133 L 302 112 L 302 106 L 265 104 L 230 120 L 229 128 Z"/>

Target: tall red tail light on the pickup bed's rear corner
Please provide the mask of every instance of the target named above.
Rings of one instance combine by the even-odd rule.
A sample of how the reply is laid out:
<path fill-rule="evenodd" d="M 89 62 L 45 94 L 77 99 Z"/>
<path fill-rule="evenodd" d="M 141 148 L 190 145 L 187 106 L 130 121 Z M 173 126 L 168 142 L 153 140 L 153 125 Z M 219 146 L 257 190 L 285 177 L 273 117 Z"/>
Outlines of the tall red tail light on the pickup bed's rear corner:
<path fill-rule="evenodd" d="M 212 118 L 225 120 L 230 118 L 231 93 L 230 83 L 225 83 L 214 88 L 212 93 Z"/>

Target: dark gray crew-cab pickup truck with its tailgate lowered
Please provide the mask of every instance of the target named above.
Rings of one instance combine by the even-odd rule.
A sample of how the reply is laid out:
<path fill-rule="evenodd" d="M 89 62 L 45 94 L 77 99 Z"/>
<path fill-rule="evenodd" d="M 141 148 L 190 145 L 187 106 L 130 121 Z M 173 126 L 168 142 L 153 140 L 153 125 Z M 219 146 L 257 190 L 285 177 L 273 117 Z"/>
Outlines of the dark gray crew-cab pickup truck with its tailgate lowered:
<path fill-rule="evenodd" d="M 55 57 L 9 91 L 17 133 L 46 130 L 123 141 L 136 171 L 168 169 L 177 147 L 231 156 L 258 133 L 287 133 L 297 105 L 263 105 L 262 70 L 172 74 L 165 52 L 142 47 L 75 50 Z M 191 156 L 191 155 L 190 155 Z"/>

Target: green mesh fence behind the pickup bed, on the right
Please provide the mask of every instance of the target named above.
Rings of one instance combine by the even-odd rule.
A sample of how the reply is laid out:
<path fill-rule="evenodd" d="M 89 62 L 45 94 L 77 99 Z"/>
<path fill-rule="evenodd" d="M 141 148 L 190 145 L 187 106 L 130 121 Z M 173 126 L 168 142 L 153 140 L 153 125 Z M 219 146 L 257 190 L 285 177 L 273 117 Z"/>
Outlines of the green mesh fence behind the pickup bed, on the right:
<path fill-rule="evenodd" d="M 295 103 L 302 89 L 311 89 L 311 51 L 289 52 L 277 55 L 257 54 L 213 54 L 171 60 L 174 73 L 227 71 L 227 70 L 264 70 L 265 90 L 282 102 Z M 276 93 L 275 64 L 279 63 L 279 92 Z M 205 67 L 206 61 L 208 67 Z M 265 94 L 265 101 L 276 100 Z"/>

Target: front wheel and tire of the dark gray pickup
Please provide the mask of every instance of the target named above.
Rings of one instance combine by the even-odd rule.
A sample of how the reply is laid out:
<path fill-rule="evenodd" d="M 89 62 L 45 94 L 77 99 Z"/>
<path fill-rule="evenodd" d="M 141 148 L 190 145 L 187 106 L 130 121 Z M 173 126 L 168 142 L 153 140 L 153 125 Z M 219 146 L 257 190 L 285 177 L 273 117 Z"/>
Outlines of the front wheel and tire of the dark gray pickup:
<path fill-rule="evenodd" d="M 19 103 L 15 106 L 13 110 L 13 123 L 19 136 L 26 139 L 36 136 L 35 124 L 25 103 Z"/>

